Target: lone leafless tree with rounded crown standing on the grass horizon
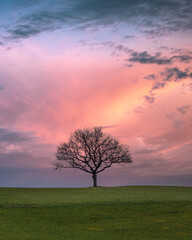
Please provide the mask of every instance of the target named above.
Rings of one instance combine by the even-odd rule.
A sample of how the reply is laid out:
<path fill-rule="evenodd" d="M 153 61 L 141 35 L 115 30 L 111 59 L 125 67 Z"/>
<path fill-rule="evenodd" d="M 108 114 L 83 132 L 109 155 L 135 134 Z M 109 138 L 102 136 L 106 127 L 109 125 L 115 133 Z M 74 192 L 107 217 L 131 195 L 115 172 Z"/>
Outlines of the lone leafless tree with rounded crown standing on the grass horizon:
<path fill-rule="evenodd" d="M 92 174 L 93 186 L 97 187 L 97 174 L 112 164 L 132 162 L 128 147 L 108 134 L 102 127 L 78 129 L 67 143 L 58 146 L 56 169 L 77 168 Z"/>

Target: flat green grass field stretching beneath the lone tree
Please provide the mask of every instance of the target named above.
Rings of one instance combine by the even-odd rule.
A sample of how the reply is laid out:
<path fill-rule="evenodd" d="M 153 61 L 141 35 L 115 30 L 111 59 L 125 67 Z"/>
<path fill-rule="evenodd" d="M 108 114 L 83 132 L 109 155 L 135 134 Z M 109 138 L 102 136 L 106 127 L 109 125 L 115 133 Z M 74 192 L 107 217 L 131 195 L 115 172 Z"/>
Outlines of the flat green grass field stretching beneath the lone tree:
<path fill-rule="evenodd" d="M 192 188 L 0 188 L 0 240 L 192 239 Z"/>

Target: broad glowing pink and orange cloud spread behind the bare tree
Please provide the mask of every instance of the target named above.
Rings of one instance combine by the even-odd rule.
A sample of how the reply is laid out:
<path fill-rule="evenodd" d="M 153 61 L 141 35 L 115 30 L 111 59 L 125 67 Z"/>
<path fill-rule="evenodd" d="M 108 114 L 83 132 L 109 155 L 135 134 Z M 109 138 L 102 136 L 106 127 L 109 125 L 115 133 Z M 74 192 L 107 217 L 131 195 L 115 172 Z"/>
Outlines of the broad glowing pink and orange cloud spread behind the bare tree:
<path fill-rule="evenodd" d="M 30 48 L 33 54 L 25 51 L 10 50 L 6 57 L 6 64 L 10 65 L 1 61 L 0 74 L 6 84 L 0 95 L 0 120 L 7 128 L 33 131 L 40 139 L 28 145 L 6 143 L 4 167 L 51 168 L 56 145 L 72 131 L 115 125 L 104 131 L 128 144 L 134 159 L 130 170 L 122 170 L 124 173 L 188 173 L 184 165 L 191 167 L 187 146 L 192 115 L 190 109 L 186 114 L 177 109 L 188 106 L 192 99 L 188 88 L 182 93 L 182 83 L 171 82 L 156 90 L 155 101 L 149 104 L 143 96 L 150 92 L 153 82 L 145 76 L 160 68 L 126 68 L 106 56 L 101 61 L 70 54 L 46 57 L 38 48 Z M 16 157 L 11 163 L 13 152 Z M 183 167 L 175 152 L 178 156 L 183 154 Z"/>

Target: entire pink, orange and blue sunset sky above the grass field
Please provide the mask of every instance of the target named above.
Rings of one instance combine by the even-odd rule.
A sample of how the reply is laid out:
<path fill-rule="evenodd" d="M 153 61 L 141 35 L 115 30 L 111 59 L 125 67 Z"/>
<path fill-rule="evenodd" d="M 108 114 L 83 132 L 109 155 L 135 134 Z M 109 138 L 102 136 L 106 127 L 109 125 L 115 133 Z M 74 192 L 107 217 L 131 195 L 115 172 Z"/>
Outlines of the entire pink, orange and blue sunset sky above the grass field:
<path fill-rule="evenodd" d="M 100 186 L 192 186 L 191 0 L 1 0 L 0 186 L 89 187 L 57 146 L 102 126 L 133 158 Z"/>

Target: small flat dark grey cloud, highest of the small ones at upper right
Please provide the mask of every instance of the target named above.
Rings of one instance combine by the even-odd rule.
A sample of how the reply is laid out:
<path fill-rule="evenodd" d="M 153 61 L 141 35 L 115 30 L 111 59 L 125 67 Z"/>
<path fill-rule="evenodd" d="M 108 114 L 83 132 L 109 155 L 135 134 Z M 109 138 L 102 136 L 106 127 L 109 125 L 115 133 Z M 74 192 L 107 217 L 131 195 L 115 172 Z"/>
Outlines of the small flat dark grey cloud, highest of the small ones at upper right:
<path fill-rule="evenodd" d="M 154 56 L 150 55 L 147 51 L 144 52 L 133 52 L 131 57 L 128 59 L 130 62 L 139 62 L 142 64 L 158 64 L 165 65 L 172 62 L 171 59 L 161 57 L 161 53 L 156 53 Z"/>

